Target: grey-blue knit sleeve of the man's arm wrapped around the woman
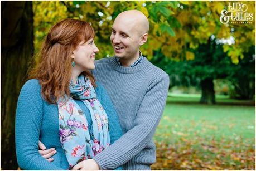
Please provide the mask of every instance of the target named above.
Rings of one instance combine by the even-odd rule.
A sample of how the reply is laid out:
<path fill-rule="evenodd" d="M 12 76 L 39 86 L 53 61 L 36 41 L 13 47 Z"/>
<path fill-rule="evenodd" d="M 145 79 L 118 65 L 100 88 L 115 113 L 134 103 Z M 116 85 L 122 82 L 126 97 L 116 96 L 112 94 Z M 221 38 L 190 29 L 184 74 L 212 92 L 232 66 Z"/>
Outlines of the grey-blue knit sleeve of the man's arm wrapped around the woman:
<path fill-rule="evenodd" d="M 167 74 L 152 81 L 139 106 L 133 128 L 94 158 L 101 170 L 128 162 L 152 140 L 165 108 L 168 86 Z"/>

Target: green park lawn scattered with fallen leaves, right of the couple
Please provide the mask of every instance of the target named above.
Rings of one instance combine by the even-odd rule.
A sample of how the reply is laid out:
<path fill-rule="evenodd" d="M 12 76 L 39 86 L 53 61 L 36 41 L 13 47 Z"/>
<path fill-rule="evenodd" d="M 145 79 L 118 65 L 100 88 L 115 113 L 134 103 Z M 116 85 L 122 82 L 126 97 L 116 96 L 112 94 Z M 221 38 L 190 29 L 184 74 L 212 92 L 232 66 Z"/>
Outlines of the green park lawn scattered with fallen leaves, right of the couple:
<path fill-rule="evenodd" d="M 154 141 L 164 170 L 255 169 L 255 106 L 252 101 L 217 96 L 216 105 L 200 96 L 167 99 Z"/>

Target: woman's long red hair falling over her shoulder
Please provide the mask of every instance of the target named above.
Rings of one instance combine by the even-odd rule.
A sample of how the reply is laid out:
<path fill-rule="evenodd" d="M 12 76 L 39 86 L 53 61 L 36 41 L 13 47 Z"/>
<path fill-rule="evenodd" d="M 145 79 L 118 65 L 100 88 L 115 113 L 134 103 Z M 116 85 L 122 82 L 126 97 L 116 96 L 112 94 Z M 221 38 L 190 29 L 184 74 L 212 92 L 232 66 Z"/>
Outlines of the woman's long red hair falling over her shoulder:
<path fill-rule="evenodd" d="M 87 42 L 95 35 L 88 22 L 67 18 L 50 28 L 41 51 L 39 63 L 29 74 L 29 79 L 39 80 L 42 96 L 56 104 L 60 97 L 70 95 L 71 55 L 80 42 Z M 95 79 L 89 71 L 83 72 L 96 87 Z"/>

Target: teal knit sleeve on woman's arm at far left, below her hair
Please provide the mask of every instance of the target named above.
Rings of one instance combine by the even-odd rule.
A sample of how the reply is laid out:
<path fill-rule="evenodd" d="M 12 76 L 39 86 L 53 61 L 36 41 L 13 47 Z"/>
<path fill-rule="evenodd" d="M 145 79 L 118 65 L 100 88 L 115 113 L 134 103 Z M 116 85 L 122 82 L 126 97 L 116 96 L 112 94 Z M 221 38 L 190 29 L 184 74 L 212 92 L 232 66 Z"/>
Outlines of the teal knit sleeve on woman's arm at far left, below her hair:
<path fill-rule="evenodd" d="M 18 98 L 15 123 L 18 165 L 24 170 L 62 170 L 48 162 L 38 152 L 38 140 L 44 113 L 41 87 L 37 80 L 29 80 Z"/>

